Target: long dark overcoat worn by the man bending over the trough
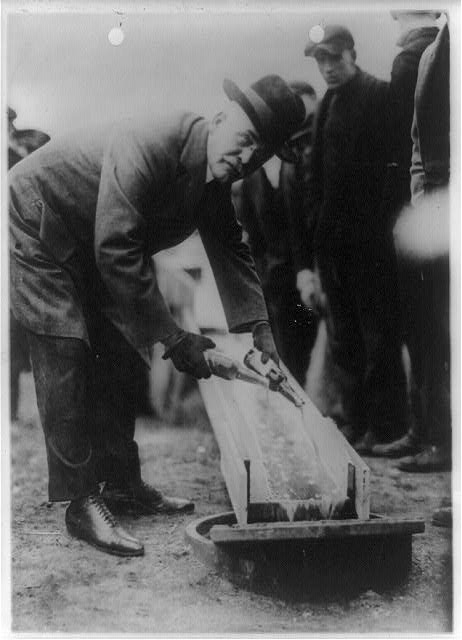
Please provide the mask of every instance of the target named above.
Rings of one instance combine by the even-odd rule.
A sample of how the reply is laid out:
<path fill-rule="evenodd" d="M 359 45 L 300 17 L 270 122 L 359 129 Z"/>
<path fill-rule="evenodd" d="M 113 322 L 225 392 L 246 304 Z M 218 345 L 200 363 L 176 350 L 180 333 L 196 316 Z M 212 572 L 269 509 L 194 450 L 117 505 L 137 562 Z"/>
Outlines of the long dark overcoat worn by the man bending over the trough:
<path fill-rule="evenodd" d="M 124 121 L 56 138 L 10 171 L 11 306 L 24 326 L 88 342 L 97 305 L 149 361 L 177 329 L 152 255 L 196 229 L 230 330 L 267 319 L 229 188 L 205 185 L 208 128 L 186 112 Z"/>

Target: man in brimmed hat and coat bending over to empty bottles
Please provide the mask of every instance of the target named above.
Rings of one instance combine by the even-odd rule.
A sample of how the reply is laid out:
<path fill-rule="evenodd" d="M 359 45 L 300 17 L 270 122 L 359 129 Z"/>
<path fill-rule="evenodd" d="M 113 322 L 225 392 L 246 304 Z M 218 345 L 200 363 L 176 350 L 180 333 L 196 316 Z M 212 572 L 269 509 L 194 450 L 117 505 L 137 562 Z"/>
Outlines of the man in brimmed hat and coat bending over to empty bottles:
<path fill-rule="evenodd" d="M 152 255 L 198 230 L 230 331 L 252 331 L 262 360 L 278 361 L 230 185 L 283 154 L 305 110 L 279 76 L 223 86 L 230 102 L 211 122 L 183 111 L 78 132 L 9 173 L 11 307 L 29 339 L 49 498 L 70 501 L 72 535 L 115 555 L 144 547 L 109 507 L 194 509 L 141 479 L 134 397 L 152 345 L 197 378 L 215 346 L 176 325 Z"/>

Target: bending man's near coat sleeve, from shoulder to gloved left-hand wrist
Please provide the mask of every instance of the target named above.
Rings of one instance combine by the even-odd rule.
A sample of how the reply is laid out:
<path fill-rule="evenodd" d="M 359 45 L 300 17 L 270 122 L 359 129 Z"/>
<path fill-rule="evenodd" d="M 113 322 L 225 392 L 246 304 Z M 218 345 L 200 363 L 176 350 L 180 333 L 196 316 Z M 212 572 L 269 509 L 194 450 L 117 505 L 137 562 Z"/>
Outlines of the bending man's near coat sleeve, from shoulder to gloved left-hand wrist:
<path fill-rule="evenodd" d="M 168 182 L 168 154 L 148 140 L 134 127 L 113 130 L 104 152 L 95 220 L 97 266 L 138 347 L 178 329 L 159 291 L 147 243 L 146 211 Z"/>

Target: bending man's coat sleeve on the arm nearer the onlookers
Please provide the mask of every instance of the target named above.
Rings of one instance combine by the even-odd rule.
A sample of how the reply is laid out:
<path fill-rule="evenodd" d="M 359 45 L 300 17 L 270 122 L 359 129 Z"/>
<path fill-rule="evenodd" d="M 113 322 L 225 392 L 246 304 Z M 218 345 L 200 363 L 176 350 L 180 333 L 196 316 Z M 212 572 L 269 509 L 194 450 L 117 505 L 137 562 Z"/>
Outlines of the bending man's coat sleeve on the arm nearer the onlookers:
<path fill-rule="evenodd" d="M 255 322 L 268 320 L 268 312 L 249 247 L 242 241 L 242 228 L 229 190 L 214 185 L 204 205 L 199 233 L 229 330 L 250 331 Z"/>

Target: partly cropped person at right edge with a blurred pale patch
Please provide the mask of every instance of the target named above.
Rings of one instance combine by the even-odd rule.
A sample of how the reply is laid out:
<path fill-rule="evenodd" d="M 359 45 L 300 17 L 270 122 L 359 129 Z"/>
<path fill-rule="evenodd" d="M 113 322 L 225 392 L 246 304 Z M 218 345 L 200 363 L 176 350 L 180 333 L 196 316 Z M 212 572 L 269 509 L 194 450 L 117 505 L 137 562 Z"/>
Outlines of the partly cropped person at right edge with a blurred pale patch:
<path fill-rule="evenodd" d="M 410 342 L 421 428 L 408 440 L 422 451 L 403 458 L 403 471 L 451 468 L 449 333 L 449 29 L 422 55 L 412 123 L 413 210 L 395 228 L 403 271 L 417 271 L 415 334 Z"/>

